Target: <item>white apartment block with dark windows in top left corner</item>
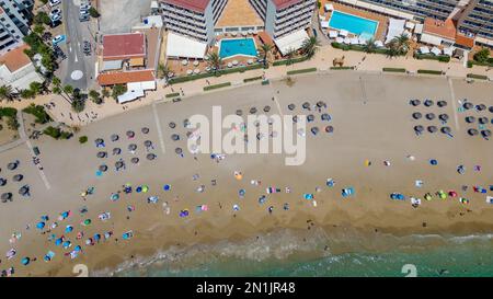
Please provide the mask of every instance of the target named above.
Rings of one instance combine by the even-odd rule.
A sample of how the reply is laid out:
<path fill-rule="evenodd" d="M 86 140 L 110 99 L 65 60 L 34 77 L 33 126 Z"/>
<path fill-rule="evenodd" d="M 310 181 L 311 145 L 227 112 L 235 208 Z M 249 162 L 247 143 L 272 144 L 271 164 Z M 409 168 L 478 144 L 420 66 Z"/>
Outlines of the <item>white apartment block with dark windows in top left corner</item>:
<path fill-rule="evenodd" d="M 33 0 L 0 0 L 0 53 L 16 47 L 30 31 Z"/>

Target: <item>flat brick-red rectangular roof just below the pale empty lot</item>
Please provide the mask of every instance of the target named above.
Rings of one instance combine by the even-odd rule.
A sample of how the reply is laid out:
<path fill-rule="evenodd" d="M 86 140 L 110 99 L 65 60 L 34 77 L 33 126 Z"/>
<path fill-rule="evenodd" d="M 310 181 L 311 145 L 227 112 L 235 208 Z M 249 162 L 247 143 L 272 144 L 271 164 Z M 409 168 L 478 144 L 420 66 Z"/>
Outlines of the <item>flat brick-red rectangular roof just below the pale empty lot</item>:
<path fill-rule="evenodd" d="M 103 37 L 103 60 L 146 57 L 144 33 L 111 34 Z"/>

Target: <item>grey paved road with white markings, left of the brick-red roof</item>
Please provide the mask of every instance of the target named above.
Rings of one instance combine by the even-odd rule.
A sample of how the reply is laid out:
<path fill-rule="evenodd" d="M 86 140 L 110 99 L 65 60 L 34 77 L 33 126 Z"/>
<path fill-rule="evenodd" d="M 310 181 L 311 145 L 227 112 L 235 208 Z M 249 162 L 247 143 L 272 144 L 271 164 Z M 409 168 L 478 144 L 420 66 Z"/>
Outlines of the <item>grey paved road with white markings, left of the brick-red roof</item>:
<path fill-rule="evenodd" d="M 67 59 L 60 67 L 61 78 L 64 84 L 70 84 L 80 90 L 88 90 L 92 85 L 94 77 L 94 61 L 95 57 L 85 56 L 82 51 L 83 41 L 89 41 L 92 47 L 95 43 L 92 39 L 90 32 L 90 21 L 79 21 L 79 5 L 78 0 L 62 1 L 64 25 L 66 28 L 67 44 L 65 51 Z"/>

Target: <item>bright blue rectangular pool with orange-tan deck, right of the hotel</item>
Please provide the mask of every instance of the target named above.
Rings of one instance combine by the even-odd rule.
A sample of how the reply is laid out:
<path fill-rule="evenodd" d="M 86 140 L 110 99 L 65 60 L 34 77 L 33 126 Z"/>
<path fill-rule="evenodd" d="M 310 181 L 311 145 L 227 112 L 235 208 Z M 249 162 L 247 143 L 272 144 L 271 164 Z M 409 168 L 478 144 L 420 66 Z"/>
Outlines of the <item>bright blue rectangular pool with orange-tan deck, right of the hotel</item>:
<path fill-rule="evenodd" d="M 329 26 L 336 30 L 346 30 L 349 33 L 365 36 L 375 36 L 378 28 L 378 22 L 359 18 L 353 14 L 333 11 Z"/>

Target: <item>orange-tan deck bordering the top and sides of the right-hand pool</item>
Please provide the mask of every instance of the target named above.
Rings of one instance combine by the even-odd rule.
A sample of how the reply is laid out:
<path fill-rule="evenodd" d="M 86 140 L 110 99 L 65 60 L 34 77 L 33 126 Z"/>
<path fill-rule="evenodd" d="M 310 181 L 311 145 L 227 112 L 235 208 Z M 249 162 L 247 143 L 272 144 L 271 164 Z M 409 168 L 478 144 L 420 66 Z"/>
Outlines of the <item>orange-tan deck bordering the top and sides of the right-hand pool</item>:
<path fill-rule="evenodd" d="M 348 5 L 341 4 L 341 3 L 335 3 L 333 1 L 321 0 L 321 2 L 322 2 L 322 5 L 320 7 L 319 14 L 321 16 L 322 15 L 324 16 L 323 21 L 329 21 L 332 16 L 332 12 L 324 11 L 325 4 L 331 3 L 334 7 L 334 10 L 336 10 L 336 11 L 349 13 L 349 14 L 353 14 L 353 15 L 356 15 L 359 18 L 364 18 L 364 19 L 368 19 L 368 20 L 378 22 L 378 27 L 377 27 L 377 32 L 375 34 L 375 38 L 378 41 L 385 41 L 389 18 L 378 14 L 378 13 L 352 8 Z"/>

